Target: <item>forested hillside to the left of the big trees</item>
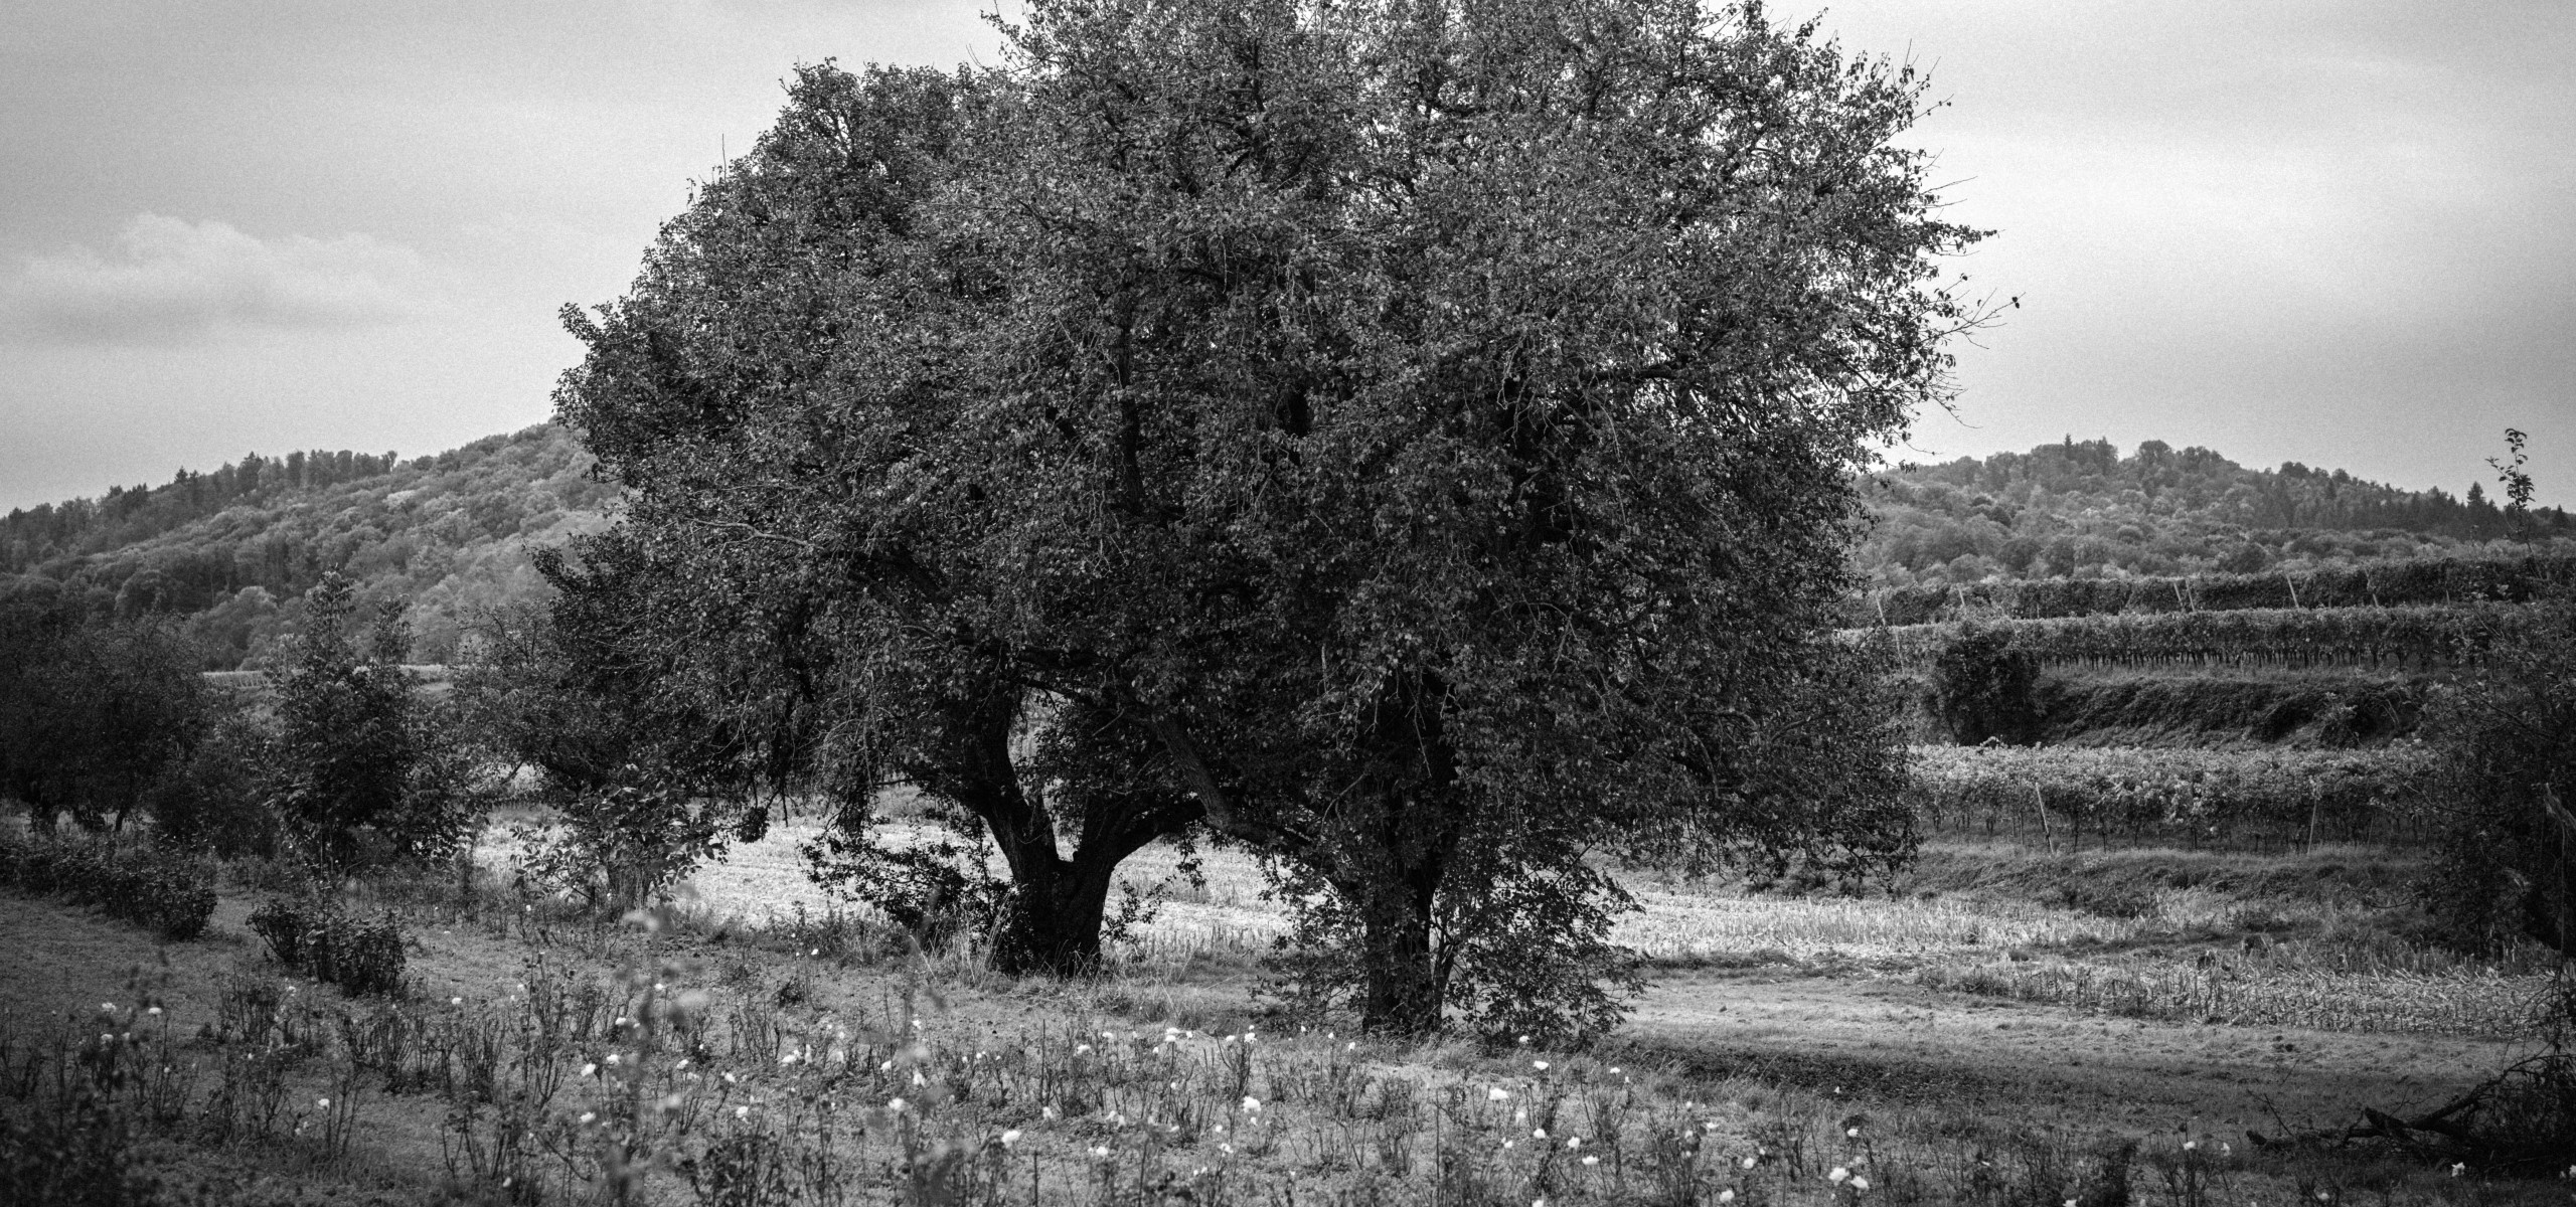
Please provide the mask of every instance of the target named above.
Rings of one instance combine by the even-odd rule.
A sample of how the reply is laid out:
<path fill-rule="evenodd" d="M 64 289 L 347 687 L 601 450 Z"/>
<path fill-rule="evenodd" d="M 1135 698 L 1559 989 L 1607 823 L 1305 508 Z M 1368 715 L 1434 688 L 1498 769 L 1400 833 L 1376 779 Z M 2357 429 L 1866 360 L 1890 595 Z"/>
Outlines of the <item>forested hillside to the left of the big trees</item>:
<path fill-rule="evenodd" d="M 392 453 L 245 456 L 162 486 L 0 517 L 0 594 L 80 592 L 88 610 L 188 615 L 206 667 L 260 661 L 325 571 L 358 602 L 410 610 L 417 661 L 446 661 L 477 605 L 541 589 L 528 548 L 603 525 L 572 432 L 541 425 L 397 461 Z"/>

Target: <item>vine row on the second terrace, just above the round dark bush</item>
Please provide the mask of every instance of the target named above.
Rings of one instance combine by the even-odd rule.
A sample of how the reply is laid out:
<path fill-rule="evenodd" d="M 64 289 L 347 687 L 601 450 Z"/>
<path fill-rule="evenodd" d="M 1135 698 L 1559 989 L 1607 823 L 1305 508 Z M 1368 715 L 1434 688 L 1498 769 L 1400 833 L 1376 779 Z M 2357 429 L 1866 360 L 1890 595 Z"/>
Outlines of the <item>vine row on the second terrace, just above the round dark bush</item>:
<path fill-rule="evenodd" d="M 2280 607 L 2244 613 L 2120 613 L 2002 620 L 2012 649 L 2071 667 L 2231 669 L 2432 669 L 2470 664 L 2519 623 L 2514 605 L 2470 607 Z M 1891 667 L 1924 667 L 1960 625 L 1852 628 Z"/>

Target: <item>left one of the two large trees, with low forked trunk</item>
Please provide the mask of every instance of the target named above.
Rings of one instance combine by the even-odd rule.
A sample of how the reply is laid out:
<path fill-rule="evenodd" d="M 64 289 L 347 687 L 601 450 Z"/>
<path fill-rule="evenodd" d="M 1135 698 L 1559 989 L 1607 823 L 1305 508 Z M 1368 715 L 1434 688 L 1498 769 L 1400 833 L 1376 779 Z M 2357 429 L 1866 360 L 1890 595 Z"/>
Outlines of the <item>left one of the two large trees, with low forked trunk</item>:
<path fill-rule="evenodd" d="M 1133 739 L 1030 685 L 992 633 L 989 569 L 958 558 L 992 525 L 953 458 L 984 401 L 966 386 L 981 309 L 1005 299 L 922 211 L 989 88 L 801 69 L 634 291 L 567 314 L 590 355 L 559 412 L 629 492 L 623 533 L 582 553 L 629 582 L 559 584 L 662 651 L 629 659 L 657 669 L 621 690 L 693 695 L 778 777 L 837 795 L 842 860 L 902 854 L 866 824 L 884 782 L 953 806 L 1012 875 L 1002 968 L 1077 973 L 1100 960 L 1118 862 L 1198 808 L 1149 767 L 1041 769 Z"/>

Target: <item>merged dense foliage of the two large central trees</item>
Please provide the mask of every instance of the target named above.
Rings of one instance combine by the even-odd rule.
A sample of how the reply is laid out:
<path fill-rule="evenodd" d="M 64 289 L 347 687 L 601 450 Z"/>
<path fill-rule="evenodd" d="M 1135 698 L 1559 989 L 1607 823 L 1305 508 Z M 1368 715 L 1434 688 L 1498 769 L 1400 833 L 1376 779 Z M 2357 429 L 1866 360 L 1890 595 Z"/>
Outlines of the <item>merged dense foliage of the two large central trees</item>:
<path fill-rule="evenodd" d="M 1976 322 L 1909 67 L 1659 0 L 1007 39 L 799 72 L 569 317 L 626 528 L 804 610 L 801 757 L 958 800 L 1015 872 L 1247 844 L 1378 1029 L 1607 1024 L 1595 854 L 1906 849 L 1821 631 L 1852 474 Z"/>

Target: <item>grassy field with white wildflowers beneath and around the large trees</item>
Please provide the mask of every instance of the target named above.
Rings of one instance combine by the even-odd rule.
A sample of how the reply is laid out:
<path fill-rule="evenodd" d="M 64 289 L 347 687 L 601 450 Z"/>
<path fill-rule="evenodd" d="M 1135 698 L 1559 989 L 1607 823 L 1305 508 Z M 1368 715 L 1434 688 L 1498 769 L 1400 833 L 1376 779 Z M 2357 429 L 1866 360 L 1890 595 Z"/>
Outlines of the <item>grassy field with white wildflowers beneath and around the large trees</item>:
<path fill-rule="evenodd" d="M 2537 963 L 2406 942 L 2383 852 L 1950 844 L 1860 898 L 1633 878 L 1636 1022 L 1535 1053 L 1283 1014 L 1257 968 L 1283 919 L 1234 852 L 1203 854 L 1203 888 L 1139 854 L 1167 901 L 1110 975 L 1064 986 L 899 955 L 804 880 L 804 834 L 703 867 L 659 932 L 518 903 L 507 842 L 474 890 L 368 885 L 353 906 L 412 942 L 399 1001 L 268 963 L 242 888 L 188 944 L 0 898 L 8 1135 L 77 1171 L 64 1119 L 113 1117 L 118 1161 L 209 1202 L 2563 1194 L 2246 1143 L 2519 1050 Z"/>

